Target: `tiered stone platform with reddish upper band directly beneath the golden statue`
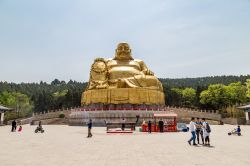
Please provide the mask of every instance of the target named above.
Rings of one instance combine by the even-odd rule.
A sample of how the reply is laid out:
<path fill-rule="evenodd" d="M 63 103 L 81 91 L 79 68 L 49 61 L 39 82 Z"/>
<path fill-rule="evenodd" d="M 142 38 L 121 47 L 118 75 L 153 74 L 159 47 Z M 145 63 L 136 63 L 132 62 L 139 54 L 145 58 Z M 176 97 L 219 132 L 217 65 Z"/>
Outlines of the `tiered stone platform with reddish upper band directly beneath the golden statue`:
<path fill-rule="evenodd" d="M 69 125 L 86 125 L 92 119 L 95 126 L 106 126 L 106 123 L 121 122 L 124 118 L 126 122 L 137 122 L 154 120 L 154 113 L 167 113 L 164 106 L 159 105 L 132 105 L 132 104 L 92 104 L 83 106 L 72 111 L 69 118 Z"/>

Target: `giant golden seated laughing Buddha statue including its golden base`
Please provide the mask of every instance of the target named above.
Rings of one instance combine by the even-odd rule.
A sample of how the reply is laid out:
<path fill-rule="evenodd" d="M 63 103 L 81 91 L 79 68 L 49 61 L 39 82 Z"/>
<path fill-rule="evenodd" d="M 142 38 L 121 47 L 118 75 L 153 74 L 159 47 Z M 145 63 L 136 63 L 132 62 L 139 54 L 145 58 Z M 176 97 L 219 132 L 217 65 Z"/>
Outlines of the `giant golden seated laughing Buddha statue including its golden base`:
<path fill-rule="evenodd" d="M 131 56 L 127 43 L 120 43 L 113 59 L 97 58 L 91 66 L 90 80 L 82 104 L 161 104 L 161 82 L 142 60 Z"/>

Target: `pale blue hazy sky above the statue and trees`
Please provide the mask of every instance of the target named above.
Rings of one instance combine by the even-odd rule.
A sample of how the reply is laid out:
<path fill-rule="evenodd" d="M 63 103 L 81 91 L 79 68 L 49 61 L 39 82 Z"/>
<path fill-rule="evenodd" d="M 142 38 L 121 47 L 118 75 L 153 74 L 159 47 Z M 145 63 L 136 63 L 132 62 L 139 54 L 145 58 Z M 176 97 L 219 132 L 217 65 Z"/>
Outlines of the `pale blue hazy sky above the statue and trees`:
<path fill-rule="evenodd" d="M 159 78 L 250 74 L 250 0 L 0 0 L 0 81 L 88 81 L 119 42 Z"/>

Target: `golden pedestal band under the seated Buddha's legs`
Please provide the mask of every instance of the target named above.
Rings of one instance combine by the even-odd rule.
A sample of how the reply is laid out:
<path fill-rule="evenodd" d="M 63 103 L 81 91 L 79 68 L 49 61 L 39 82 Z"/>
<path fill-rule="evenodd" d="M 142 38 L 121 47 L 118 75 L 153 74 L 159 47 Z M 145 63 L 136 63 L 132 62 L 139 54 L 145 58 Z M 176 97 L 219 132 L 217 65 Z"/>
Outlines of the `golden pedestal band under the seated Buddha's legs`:
<path fill-rule="evenodd" d="M 164 105 L 164 93 L 148 88 L 119 88 L 88 90 L 82 95 L 82 105 L 103 104 L 157 104 Z"/>

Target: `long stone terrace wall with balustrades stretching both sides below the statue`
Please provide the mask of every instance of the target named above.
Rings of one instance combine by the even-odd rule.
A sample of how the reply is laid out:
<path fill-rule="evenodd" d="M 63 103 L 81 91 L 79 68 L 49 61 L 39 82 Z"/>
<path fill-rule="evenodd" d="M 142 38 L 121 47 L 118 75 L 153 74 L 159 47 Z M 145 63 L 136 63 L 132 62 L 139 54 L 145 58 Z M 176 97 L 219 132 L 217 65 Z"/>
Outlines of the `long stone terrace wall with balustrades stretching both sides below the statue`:
<path fill-rule="evenodd" d="M 123 117 L 126 118 L 127 121 L 136 121 L 136 116 L 139 115 L 139 123 L 140 124 L 143 119 L 149 120 L 153 119 L 153 113 L 166 113 L 166 112 L 174 112 L 177 116 L 177 122 L 185 122 L 189 123 L 191 117 L 199 117 L 206 118 L 213 124 L 221 120 L 221 115 L 217 113 L 217 111 L 210 110 L 194 110 L 187 108 L 178 108 L 178 107 L 165 107 L 164 111 L 159 110 L 95 110 L 95 111 L 84 111 L 82 107 L 66 109 L 66 110 L 55 110 L 48 111 L 39 114 L 34 114 L 33 120 L 46 120 L 46 119 L 55 119 L 58 118 L 60 114 L 65 115 L 65 122 L 68 122 L 70 125 L 86 125 L 88 119 L 91 117 L 94 119 L 94 123 L 96 125 L 105 125 L 105 121 L 119 121 Z M 45 122 L 47 124 L 47 122 Z"/>

